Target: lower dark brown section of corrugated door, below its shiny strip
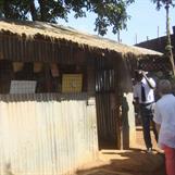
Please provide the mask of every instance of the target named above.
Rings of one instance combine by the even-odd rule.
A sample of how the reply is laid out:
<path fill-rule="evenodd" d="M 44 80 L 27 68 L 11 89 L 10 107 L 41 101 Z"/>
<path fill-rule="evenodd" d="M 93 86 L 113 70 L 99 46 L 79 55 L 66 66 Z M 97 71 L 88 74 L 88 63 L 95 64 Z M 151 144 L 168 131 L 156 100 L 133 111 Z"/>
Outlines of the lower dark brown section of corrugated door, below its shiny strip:
<path fill-rule="evenodd" d="M 117 109 L 112 104 L 113 93 L 97 93 L 98 139 L 100 149 L 117 148 Z"/>

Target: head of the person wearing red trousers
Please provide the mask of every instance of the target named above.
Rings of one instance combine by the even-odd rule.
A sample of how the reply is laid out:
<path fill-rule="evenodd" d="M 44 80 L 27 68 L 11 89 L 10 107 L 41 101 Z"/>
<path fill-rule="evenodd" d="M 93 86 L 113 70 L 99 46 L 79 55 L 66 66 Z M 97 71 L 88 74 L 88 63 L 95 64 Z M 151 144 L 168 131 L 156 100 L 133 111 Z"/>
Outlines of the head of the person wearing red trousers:
<path fill-rule="evenodd" d="M 172 91 L 171 82 L 167 79 L 161 79 L 158 86 L 158 90 L 161 96 L 170 93 Z"/>

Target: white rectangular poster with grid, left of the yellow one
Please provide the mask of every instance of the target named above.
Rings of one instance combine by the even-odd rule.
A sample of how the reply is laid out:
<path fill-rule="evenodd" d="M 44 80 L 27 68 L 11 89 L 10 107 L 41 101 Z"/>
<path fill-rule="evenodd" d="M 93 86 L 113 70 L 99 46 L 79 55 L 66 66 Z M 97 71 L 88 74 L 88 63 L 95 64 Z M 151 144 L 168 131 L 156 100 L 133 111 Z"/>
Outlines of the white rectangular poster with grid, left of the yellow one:
<path fill-rule="evenodd" d="M 10 93 L 35 93 L 36 80 L 11 80 Z"/>

